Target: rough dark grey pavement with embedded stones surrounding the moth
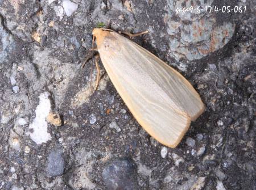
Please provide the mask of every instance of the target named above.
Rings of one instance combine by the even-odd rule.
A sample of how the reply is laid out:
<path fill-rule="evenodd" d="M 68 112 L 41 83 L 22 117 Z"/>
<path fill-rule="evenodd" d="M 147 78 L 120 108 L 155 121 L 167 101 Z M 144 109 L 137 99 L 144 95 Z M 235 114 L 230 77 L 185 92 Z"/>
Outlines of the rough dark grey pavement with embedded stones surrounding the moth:
<path fill-rule="evenodd" d="M 175 14 L 191 5 L 246 11 Z M 256 189 L 255 5 L 0 0 L 0 189 Z M 199 92 L 205 112 L 175 149 L 139 126 L 102 65 L 90 90 L 81 64 L 102 23 L 150 31 L 134 41 Z"/>

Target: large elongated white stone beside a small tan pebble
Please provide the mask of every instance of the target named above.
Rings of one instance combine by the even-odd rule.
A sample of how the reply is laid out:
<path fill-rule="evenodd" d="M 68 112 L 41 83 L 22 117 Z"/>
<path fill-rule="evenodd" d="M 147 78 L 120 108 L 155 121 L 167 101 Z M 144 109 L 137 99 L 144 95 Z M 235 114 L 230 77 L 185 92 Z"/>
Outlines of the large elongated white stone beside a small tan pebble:
<path fill-rule="evenodd" d="M 51 101 L 49 100 L 49 92 L 43 92 L 39 96 L 39 104 L 36 107 L 36 117 L 33 123 L 30 124 L 29 128 L 33 129 L 30 133 L 30 138 L 38 145 L 47 142 L 52 139 L 51 134 L 47 132 L 47 122 L 46 117 L 51 111 Z"/>

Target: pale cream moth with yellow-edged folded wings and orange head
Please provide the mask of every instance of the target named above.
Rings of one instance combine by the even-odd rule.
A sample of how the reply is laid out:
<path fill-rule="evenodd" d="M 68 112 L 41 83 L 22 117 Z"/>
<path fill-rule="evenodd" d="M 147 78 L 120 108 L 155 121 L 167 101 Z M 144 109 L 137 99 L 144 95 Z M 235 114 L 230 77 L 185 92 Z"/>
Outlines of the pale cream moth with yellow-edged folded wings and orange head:
<path fill-rule="evenodd" d="M 176 147 L 204 111 L 192 85 L 154 54 L 110 29 L 94 28 L 110 80 L 138 123 L 163 145 Z"/>

